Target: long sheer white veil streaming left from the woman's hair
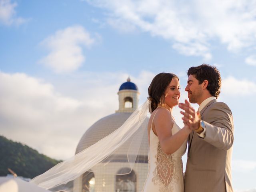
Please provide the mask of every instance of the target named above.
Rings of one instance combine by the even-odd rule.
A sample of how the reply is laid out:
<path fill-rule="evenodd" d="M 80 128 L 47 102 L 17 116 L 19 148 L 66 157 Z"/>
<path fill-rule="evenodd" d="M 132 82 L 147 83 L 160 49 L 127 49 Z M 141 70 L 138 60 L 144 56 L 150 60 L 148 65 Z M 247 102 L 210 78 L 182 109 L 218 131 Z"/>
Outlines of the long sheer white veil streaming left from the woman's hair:
<path fill-rule="evenodd" d="M 147 163 L 148 151 L 142 149 L 142 139 L 147 138 L 150 107 L 151 101 L 147 100 L 114 132 L 30 182 L 51 191 L 82 191 L 76 189 L 76 183 L 92 172 L 124 175 L 132 172 L 136 163 Z M 115 162 L 114 168 L 112 162 Z M 116 172 L 124 167 L 121 172 Z M 105 181 L 101 182 L 104 186 Z"/>

